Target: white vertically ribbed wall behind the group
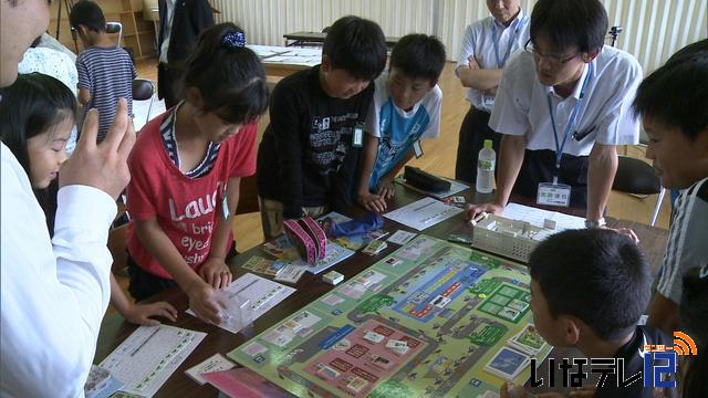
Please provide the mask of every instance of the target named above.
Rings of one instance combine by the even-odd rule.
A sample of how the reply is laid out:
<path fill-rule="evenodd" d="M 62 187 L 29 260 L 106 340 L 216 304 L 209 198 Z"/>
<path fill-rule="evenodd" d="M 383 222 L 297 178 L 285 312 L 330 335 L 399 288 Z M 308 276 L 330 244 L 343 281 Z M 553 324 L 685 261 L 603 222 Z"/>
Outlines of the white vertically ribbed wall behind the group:
<path fill-rule="evenodd" d="M 436 34 L 457 59 L 465 27 L 489 14 L 483 0 L 212 0 L 218 21 L 235 21 L 249 43 L 283 45 L 283 34 L 321 31 L 337 18 L 355 14 L 378 22 L 386 35 Z M 646 72 L 681 46 L 708 33 L 706 0 L 602 0 L 610 25 L 623 33 L 617 46 L 634 54 Z M 524 11 L 535 0 L 521 0 Z"/>

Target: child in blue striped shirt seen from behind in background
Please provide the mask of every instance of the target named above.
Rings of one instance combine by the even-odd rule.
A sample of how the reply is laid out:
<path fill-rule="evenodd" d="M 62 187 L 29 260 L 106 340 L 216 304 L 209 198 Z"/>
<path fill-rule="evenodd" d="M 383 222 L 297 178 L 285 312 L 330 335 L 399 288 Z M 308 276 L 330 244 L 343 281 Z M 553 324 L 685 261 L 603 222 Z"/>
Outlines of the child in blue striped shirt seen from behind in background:
<path fill-rule="evenodd" d="M 69 23 L 85 48 L 76 57 L 83 118 L 88 109 L 98 109 L 97 139 L 102 142 L 113 122 L 118 98 L 127 101 L 128 115 L 133 117 L 133 80 L 137 73 L 131 55 L 106 33 L 106 19 L 95 2 L 81 0 L 74 4 Z"/>

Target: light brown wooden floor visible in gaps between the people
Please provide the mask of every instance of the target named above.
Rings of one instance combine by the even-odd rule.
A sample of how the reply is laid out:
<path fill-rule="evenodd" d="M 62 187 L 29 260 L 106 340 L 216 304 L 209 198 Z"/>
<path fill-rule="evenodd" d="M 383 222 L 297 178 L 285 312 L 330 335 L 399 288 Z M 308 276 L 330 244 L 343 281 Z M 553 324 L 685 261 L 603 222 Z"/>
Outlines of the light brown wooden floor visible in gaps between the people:
<path fill-rule="evenodd" d="M 420 167 L 429 172 L 445 176 L 455 176 L 455 158 L 457 154 L 457 142 L 460 124 L 469 108 L 469 103 L 465 101 L 465 90 L 454 73 L 454 63 L 445 66 L 440 77 L 442 88 L 442 115 L 440 121 L 440 137 L 436 140 L 424 143 L 425 156 L 414 159 L 410 164 Z M 137 65 L 138 77 L 157 80 L 157 66 L 155 61 L 143 61 Z M 261 119 L 261 129 L 268 124 L 269 117 L 266 115 Z M 627 155 L 644 159 L 644 149 L 633 146 L 627 149 Z M 610 217 L 627 219 L 632 221 L 648 223 L 657 196 L 636 198 L 629 195 L 612 192 L 607 206 Z M 662 206 L 656 226 L 667 228 L 670 206 L 668 195 Z M 233 230 L 238 242 L 238 250 L 244 251 L 263 241 L 262 228 L 259 213 L 237 216 L 233 221 Z M 126 281 L 122 280 L 124 285 Z"/>

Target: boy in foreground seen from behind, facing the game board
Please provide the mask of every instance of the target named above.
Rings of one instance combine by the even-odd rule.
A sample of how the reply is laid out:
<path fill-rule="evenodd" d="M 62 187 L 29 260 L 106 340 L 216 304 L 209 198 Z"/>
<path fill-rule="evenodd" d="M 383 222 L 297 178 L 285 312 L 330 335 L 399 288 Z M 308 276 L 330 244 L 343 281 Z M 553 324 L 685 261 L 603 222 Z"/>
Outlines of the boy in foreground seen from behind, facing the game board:
<path fill-rule="evenodd" d="M 624 358 L 624 371 L 608 374 L 594 397 L 658 392 L 644 388 L 644 346 L 673 344 L 659 329 L 637 325 L 652 294 L 652 273 L 628 237 L 608 229 L 560 232 L 531 253 L 529 270 L 533 322 L 549 344 L 575 347 L 589 358 Z M 634 383 L 620 386 L 636 374 Z M 595 386 L 586 381 L 583 387 Z M 520 387 L 510 394 L 507 385 L 500 392 L 529 396 Z"/>

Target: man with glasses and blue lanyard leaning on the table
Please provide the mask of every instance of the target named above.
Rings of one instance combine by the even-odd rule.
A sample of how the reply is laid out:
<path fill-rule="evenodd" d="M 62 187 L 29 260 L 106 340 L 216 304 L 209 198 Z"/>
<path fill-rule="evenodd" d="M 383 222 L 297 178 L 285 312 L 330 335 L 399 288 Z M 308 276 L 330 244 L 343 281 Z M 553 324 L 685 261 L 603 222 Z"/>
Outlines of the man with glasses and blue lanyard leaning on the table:
<path fill-rule="evenodd" d="M 503 134 L 493 202 L 501 213 L 514 193 L 544 206 L 586 209 L 587 227 L 603 213 L 617 169 L 617 145 L 636 144 L 631 111 L 642 67 L 604 46 L 607 13 L 598 0 L 539 0 L 525 51 L 507 63 L 489 126 Z"/>

